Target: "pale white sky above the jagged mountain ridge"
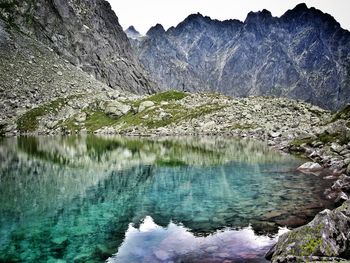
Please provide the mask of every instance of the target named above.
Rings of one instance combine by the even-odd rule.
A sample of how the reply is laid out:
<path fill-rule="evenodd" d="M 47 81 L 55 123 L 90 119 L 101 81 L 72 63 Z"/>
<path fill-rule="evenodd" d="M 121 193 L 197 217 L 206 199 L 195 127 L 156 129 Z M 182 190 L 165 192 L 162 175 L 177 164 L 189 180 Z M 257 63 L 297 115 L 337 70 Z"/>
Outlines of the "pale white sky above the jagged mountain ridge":
<path fill-rule="evenodd" d="M 350 30 L 350 0 L 108 0 L 124 29 L 130 25 L 142 34 L 157 23 L 168 29 L 188 15 L 201 13 L 212 19 L 244 21 L 250 11 L 267 9 L 281 16 L 288 9 L 304 2 L 331 14 L 345 29 Z"/>

